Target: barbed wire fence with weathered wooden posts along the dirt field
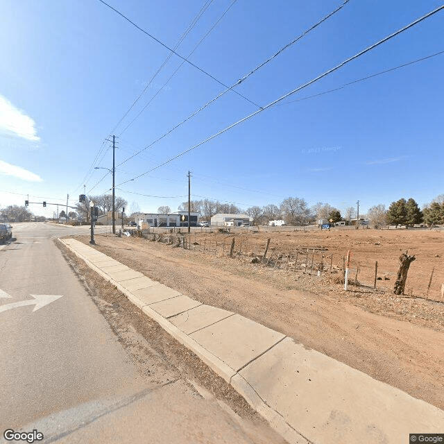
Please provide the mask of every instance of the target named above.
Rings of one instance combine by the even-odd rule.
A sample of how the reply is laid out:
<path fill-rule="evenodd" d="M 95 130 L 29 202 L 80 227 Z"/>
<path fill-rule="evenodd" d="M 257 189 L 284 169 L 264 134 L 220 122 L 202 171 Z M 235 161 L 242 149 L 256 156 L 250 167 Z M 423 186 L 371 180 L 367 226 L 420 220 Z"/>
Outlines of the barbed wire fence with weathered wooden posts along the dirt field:
<path fill-rule="evenodd" d="M 271 238 L 255 239 L 250 230 L 239 230 L 233 234 L 230 231 L 223 230 L 221 233 L 223 236 L 219 239 L 214 239 L 214 230 L 195 230 L 190 234 L 182 233 L 180 230 L 169 230 L 167 233 L 131 230 L 131 234 L 205 255 L 237 259 L 246 264 L 257 264 L 257 266 L 275 268 L 287 273 L 330 278 L 333 284 L 344 283 L 347 253 L 345 250 L 343 253 L 330 253 L 322 246 L 309 245 L 296 248 L 289 245 L 279 248 L 278 245 L 273 244 Z M 404 297 L 444 302 L 442 271 L 438 273 L 436 267 L 427 270 L 427 265 L 421 264 L 420 259 L 418 259 L 418 265 L 420 266 L 413 266 L 409 271 Z M 359 257 L 359 253 L 352 252 L 349 289 L 393 293 L 397 271 L 398 258 L 388 260 L 375 255 L 370 261 L 368 257 Z M 412 281 L 415 284 L 411 284 Z"/>

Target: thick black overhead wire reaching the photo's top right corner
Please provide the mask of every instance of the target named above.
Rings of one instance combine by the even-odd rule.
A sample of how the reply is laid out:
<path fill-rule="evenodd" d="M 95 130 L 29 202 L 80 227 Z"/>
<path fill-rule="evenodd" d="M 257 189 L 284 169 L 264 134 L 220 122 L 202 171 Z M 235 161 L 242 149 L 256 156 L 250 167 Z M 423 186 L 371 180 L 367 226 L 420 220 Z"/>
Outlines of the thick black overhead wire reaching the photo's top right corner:
<path fill-rule="evenodd" d="M 423 15 L 422 17 L 419 17 L 418 19 L 414 20 L 413 22 L 411 22 L 407 26 L 404 26 L 400 30 L 395 31 L 394 33 L 392 33 L 391 35 L 388 35 L 387 37 L 384 37 L 382 40 L 379 40 L 378 42 L 368 46 L 366 49 L 363 49 L 362 51 L 359 51 L 359 53 L 355 54 L 355 56 L 352 56 L 352 57 L 344 60 L 343 62 L 339 63 L 339 65 L 336 65 L 335 67 L 325 71 L 323 74 L 320 74 L 316 78 L 314 78 L 312 80 L 309 80 L 309 82 L 304 83 L 303 85 L 300 85 L 299 87 L 291 90 L 290 92 L 287 92 L 287 94 L 284 94 L 283 96 L 280 96 L 279 99 L 276 99 L 275 101 L 272 101 L 271 103 L 268 103 L 268 105 L 264 106 L 264 108 L 261 108 L 260 110 L 257 110 L 255 112 L 252 112 L 251 114 L 248 114 L 248 116 L 244 117 L 243 119 L 238 120 L 237 122 L 232 123 L 230 126 L 227 126 L 223 130 L 219 131 L 219 133 L 215 133 L 214 135 L 212 135 L 210 137 L 207 137 L 207 139 L 203 140 L 202 142 L 199 142 L 198 144 L 196 144 L 194 146 L 191 146 L 191 148 L 188 148 L 185 151 L 182 151 L 182 153 L 179 153 L 178 155 L 175 155 L 175 156 L 169 158 L 169 160 L 166 160 L 165 162 L 162 162 L 162 164 L 158 164 L 156 167 L 154 167 L 154 168 L 152 168 L 152 169 L 150 169 L 148 171 L 145 171 L 145 173 L 139 174 L 138 176 L 135 176 L 133 179 L 126 180 L 125 182 L 122 182 L 119 185 L 123 185 L 124 183 L 127 183 L 127 182 L 130 182 L 132 180 L 136 180 L 138 178 L 141 178 L 142 176 L 145 176 L 146 174 L 151 173 L 151 171 L 154 171 L 155 169 L 158 169 L 160 167 L 163 167 L 166 164 L 169 164 L 173 160 L 176 160 L 178 157 L 181 157 L 182 155 L 185 155 L 186 153 L 189 153 L 189 151 L 192 151 L 192 150 L 198 148 L 199 146 L 201 146 L 201 145 L 209 142 L 210 140 L 214 139 L 215 137 L 218 137 L 219 135 L 221 135 L 223 133 L 226 133 L 231 128 L 234 128 L 234 126 L 237 126 L 240 123 L 243 123 L 244 121 L 250 119 L 251 117 L 254 117 L 256 114 L 259 114 L 259 112 L 262 112 L 264 110 L 267 110 L 268 108 L 271 108 L 272 106 L 276 105 L 280 101 L 283 101 L 284 99 L 287 99 L 287 97 L 295 94 L 296 92 L 299 92 L 301 89 L 304 89 L 304 88 L 308 87 L 309 85 L 312 85 L 313 83 L 317 82 L 318 80 L 321 80 L 321 78 L 324 78 L 325 76 L 328 76 L 329 74 L 332 74 L 332 72 L 337 71 L 338 69 L 341 69 L 341 67 L 347 65 L 352 60 L 355 60 L 356 58 L 359 58 L 359 57 L 363 56 L 368 51 L 371 51 L 371 50 L 375 49 L 380 44 L 383 44 L 384 42 L 387 42 L 388 40 L 391 40 L 393 37 L 399 35 L 400 33 L 403 33 L 404 31 L 407 31 L 407 29 L 411 28 L 412 26 L 415 26 L 416 24 L 422 22 L 423 20 L 431 17 L 432 15 L 436 14 L 436 12 L 439 12 L 440 10 L 443 10 L 443 9 L 444 9 L 444 6 L 439 6 L 438 8 L 432 10 L 431 12 L 428 12 L 426 15 Z"/>

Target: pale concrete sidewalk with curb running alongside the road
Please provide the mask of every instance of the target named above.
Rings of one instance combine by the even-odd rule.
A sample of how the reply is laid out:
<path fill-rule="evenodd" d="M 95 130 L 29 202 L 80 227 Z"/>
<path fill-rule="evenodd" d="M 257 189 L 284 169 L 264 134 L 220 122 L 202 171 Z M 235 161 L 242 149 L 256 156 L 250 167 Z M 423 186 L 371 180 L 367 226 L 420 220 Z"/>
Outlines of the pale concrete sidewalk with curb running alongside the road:
<path fill-rule="evenodd" d="M 74 239 L 60 239 L 192 350 L 289 443 L 408 443 L 444 433 L 444 411 L 295 343 L 202 304 Z"/>

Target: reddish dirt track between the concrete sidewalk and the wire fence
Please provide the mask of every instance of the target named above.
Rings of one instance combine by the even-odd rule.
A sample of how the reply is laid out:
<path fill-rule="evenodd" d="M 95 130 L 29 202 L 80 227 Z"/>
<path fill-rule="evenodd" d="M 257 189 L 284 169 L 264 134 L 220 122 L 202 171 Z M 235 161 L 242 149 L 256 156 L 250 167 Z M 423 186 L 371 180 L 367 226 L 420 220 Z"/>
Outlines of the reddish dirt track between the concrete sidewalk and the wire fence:
<path fill-rule="evenodd" d="M 95 248 L 191 298 L 235 311 L 444 409 L 443 304 L 345 293 L 315 276 L 289 276 L 135 237 L 99 235 Z"/>

